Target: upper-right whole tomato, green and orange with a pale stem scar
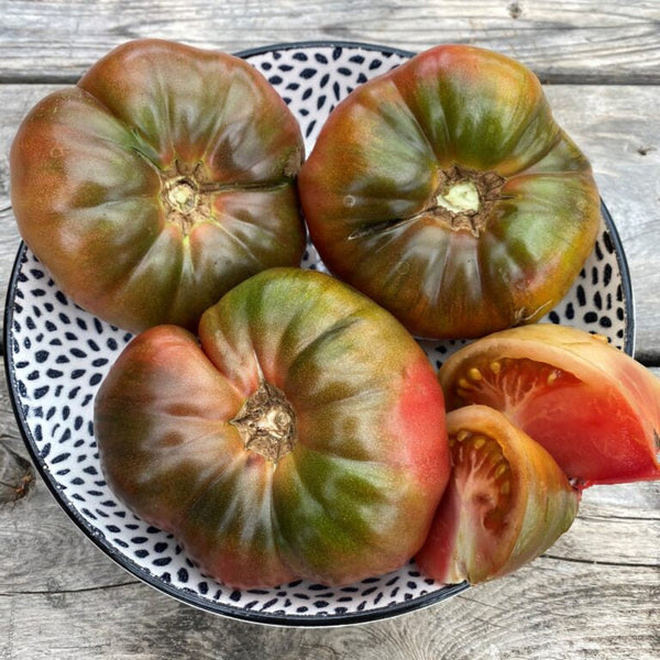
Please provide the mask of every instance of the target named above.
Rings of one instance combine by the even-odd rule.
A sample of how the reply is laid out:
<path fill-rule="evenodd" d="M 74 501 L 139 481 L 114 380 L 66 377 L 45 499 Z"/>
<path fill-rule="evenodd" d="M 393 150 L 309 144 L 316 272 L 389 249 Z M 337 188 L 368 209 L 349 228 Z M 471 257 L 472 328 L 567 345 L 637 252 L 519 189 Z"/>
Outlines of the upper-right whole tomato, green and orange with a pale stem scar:
<path fill-rule="evenodd" d="M 601 222 L 591 166 L 538 79 L 460 45 L 354 89 L 320 131 L 299 193 L 328 268 L 426 338 L 539 319 Z"/>

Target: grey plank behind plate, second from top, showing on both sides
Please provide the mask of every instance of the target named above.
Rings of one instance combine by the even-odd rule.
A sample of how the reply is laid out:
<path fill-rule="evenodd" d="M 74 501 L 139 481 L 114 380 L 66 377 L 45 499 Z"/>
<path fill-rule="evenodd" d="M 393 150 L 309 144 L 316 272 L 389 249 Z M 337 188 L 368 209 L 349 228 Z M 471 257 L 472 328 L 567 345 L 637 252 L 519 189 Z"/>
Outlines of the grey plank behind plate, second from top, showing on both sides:
<path fill-rule="evenodd" d="M 8 151 L 22 117 L 53 85 L 0 85 L 0 297 L 19 244 Z M 637 309 L 637 356 L 660 364 L 660 87 L 548 85 L 559 122 L 591 158 L 622 237 Z"/>

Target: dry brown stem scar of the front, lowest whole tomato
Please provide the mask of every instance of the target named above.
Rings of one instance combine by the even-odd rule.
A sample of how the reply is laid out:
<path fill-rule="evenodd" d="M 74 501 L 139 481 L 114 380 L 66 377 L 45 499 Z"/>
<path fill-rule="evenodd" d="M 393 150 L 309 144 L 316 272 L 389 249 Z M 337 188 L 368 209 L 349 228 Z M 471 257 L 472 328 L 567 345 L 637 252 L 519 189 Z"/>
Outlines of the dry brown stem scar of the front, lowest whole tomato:
<path fill-rule="evenodd" d="M 262 381 L 230 421 L 237 427 L 245 449 L 277 463 L 294 449 L 296 415 L 284 393 Z"/>

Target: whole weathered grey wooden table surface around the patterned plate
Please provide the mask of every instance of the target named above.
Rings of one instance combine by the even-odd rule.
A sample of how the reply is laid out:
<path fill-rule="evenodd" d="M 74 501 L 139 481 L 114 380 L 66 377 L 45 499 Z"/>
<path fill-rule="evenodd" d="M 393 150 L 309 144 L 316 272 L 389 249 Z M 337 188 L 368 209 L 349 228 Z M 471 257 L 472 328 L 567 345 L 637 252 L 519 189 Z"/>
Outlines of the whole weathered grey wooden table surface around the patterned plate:
<path fill-rule="evenodd" d="M 546 84 L 591 158 L 636 300 L 636 356 L 660 376 L 660 2 L 0 0 L 0 295 L 19 235 L 8 150 L 25 112 L 139 36 L 229 52 L 349 40 L 498 50 Z M 31 473 L 0 386 L 0 481 Z M 660 483 L 594 487 L 571 530 L 517 573 L 400 618 L 266 628 L 196 610 L 123 572 L 38 477 L 0 485 L 0 658 L 660 658 Z M 14 499 L 15 501 L 12 501 Z"/>

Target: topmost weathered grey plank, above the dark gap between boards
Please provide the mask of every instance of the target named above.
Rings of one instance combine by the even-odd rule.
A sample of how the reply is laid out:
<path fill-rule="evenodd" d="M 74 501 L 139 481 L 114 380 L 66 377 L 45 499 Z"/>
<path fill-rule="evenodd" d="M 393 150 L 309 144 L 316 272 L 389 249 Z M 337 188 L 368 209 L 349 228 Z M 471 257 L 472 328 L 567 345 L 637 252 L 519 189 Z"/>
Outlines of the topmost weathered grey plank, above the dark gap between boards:
<path fill-rule="evenodd" d="M 310 0 L 0 1 L 0 80 L 78 77 L 128 38 L 158 36 L 237 52 L 342 40 L 421 51 L 470 43 L 513 55 L 546 80 L 660 81 L 657 2 L 477 0 L 409 3 Z"/>

